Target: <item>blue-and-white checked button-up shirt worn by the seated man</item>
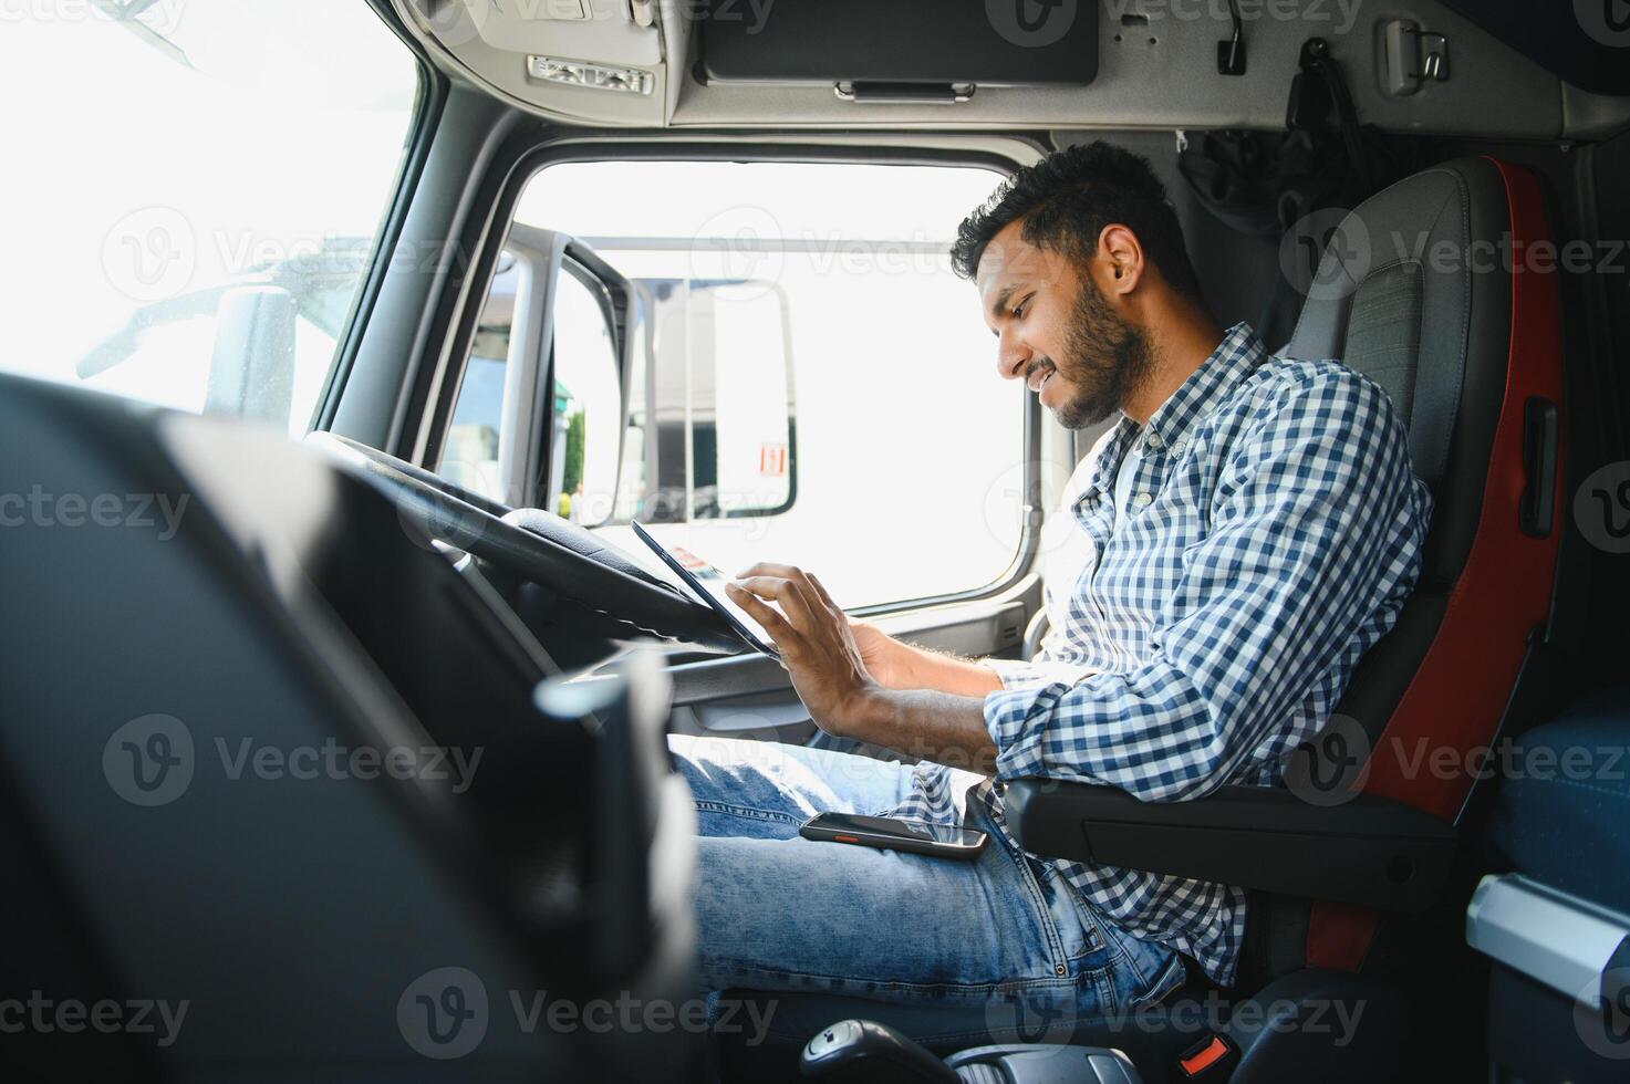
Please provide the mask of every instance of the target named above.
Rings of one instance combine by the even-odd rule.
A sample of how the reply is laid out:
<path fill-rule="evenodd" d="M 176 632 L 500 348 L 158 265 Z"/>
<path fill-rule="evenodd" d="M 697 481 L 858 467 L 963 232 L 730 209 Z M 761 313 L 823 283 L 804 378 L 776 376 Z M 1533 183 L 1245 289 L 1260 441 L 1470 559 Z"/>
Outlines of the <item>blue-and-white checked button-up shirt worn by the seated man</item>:
<path fill-rule="evenodd" d="M 1068 538 L 1055 533 L 1048 562 L 1051 629 L 1033 662 L 993 663 L 998 779 L 1079 779 L 1146 802 L 1271 786 L 1397 619 L 1430 512 L 1379 386 L 1337 362 L 1271 357 L 1234 326 L 1148 425 L 1123 417 L 1071 478 L 1056 517 Z M 957 818 L 954 791 L 945 768 L 919 765 L 898 813 Z M 989 782 L 971 792 L 1001 825 Z M 1244 890 L 1058 867 L 1121 929 L 1232 983 Z"/>

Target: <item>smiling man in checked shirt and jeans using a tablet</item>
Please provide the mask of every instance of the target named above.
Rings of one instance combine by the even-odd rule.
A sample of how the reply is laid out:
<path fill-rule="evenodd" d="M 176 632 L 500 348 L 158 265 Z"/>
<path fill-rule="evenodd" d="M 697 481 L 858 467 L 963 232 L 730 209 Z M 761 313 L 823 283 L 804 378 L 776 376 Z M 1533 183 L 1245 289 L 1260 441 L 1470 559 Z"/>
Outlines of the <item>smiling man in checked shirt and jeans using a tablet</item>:
<path fill-rule="evenodd" d="M 730 597 L 815 724 L 919 763 L 673 737 L 701 818 L 703 980 L 973 1006 L 1017 991 L 1081 1016 L 1161 998 L 1188 967 L 1227 986 L 1240 888 L 1027 854 L 1002 781 L 1148 802 L 1276 782 L 1420 572 L 1430 497 L 1403 425 L 1338 362 L 1219 328 L 1161 183 L 1125 150 L 1020 170 L 952 259 L 1002 378 L 1068 429 L 1118 414 L 1058 510 L 1050 632 L 1029 662 L 955 659 L 848 619 L 813 574 L 743 572 Z M 989 841 L 945 861 L 800 838 L 820 812 Z"/>

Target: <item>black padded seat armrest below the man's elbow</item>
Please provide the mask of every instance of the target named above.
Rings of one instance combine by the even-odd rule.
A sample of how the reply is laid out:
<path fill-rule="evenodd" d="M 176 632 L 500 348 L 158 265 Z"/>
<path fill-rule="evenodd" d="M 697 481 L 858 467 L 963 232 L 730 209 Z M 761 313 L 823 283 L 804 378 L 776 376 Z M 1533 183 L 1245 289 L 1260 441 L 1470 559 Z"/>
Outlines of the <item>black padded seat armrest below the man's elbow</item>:
<path fill-rule="evenodd" d="M 1032 854 L 1418 913 L 1443 890 L 1456 831 L 1371 794 L 1312 805 L 1283 787 L 1139 802 L 1117 787 L 1017 779 L 1007 825 Z"/>

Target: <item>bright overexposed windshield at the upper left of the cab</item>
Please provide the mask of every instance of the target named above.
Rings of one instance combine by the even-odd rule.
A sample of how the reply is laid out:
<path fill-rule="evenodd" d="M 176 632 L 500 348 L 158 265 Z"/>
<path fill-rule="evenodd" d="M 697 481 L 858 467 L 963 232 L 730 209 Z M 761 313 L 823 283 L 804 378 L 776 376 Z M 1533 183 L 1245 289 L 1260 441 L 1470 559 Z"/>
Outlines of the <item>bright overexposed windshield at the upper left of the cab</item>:
<path fill-rule="evenodd" d="M 0 367 L 305 434 L 419 70 L 362 0 L 0 13 Z"/>

